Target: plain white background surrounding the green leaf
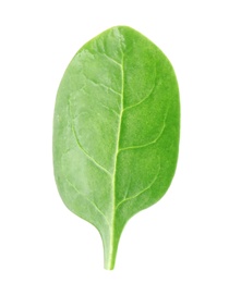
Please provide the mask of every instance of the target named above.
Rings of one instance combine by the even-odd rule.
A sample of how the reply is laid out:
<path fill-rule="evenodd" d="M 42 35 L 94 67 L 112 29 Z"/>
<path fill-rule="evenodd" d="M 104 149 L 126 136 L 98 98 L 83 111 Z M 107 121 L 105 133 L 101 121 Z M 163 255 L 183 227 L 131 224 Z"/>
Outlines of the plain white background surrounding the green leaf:
<path fill-rule="evenodd" d="M 228 1 L 0 2 L 0 282 L 229 282 Z M 166 196 L 130 220 L 113 271 L 98 232 L 62 204 L 52 115 L 79 48 L 114 25 L 176 70 L 182 126 Z"/>

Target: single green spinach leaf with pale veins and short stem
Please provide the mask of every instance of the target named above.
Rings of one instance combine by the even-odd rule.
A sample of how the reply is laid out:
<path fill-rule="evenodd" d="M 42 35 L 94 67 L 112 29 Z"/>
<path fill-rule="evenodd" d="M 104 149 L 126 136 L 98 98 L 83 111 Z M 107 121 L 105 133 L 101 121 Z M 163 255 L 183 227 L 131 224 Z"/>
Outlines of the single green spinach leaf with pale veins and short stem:
<path fill-rule="evenodd" d="M 99 231 L 106 269 L 128 220 L 168 189 L 179 123 L 173 69 L 136 30 L 110 28 L 70 62 L 55 109 L 55 176 L 65 206 Z"/>

